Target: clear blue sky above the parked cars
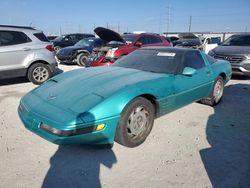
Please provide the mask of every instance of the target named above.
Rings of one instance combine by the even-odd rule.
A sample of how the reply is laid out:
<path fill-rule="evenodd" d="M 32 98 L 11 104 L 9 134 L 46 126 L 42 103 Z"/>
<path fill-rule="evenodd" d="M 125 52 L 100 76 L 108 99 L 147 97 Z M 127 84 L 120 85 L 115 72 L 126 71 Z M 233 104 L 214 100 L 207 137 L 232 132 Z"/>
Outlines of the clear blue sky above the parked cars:
<path fill-rule="evenodd" d="M 0 0 L 0 25 L 46 35 L 85 32 L 250 32 L 250 0 Z"/>

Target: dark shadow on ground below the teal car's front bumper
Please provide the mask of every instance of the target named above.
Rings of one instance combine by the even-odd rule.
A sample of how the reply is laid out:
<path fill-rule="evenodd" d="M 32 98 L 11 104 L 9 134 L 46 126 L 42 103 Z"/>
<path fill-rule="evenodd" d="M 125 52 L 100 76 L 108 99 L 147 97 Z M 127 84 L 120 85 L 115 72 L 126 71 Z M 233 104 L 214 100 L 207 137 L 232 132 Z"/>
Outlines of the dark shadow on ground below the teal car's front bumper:
<path fill-rule="evenodd" d="M 117 162 L 111 149 L 91 146 L 59 146 L 50 159 L 43 188 L 101 187 L 100 166 L 112 168 Z"/>

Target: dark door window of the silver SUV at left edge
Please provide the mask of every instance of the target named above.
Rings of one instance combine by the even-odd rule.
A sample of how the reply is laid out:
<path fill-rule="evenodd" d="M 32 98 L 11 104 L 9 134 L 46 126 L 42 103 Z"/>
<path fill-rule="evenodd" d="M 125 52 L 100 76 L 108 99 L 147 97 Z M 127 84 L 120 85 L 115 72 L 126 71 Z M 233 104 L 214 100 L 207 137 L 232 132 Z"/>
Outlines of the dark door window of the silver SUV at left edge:
<path fill-rule="evenodd" d="M 31 42 L 31 39 L 20 31 L 0 31 L 0 46 L 10 46 Z"/>

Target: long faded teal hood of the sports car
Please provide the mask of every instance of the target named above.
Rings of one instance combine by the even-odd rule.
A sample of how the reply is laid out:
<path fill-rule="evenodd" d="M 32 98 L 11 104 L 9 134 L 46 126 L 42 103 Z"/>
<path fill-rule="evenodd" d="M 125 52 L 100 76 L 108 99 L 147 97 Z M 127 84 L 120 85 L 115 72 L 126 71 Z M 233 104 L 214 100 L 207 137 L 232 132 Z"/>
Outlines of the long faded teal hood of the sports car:
<path fill-rule="evenodd" d="M 121 89 L 161 75 L 114 66 L 78 69 L 50 79 L 33 93 L 60 109 L 83 113 Z"/>

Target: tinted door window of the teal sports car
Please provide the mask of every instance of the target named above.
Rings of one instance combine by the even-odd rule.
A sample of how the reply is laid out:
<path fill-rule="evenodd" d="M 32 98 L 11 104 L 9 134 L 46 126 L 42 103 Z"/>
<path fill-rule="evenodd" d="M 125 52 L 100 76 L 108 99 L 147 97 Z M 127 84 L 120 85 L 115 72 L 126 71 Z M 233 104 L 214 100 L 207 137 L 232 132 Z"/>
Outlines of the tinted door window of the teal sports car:
<path fill-rule="evenodd" d="M 205 62 L 199 52 L 187 52 L 184 60 L 184 67 L 201 69 L 202 67 L 205 67 Z"/>

